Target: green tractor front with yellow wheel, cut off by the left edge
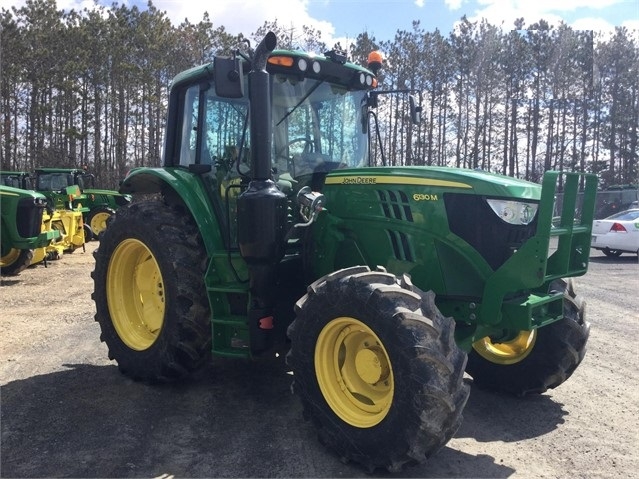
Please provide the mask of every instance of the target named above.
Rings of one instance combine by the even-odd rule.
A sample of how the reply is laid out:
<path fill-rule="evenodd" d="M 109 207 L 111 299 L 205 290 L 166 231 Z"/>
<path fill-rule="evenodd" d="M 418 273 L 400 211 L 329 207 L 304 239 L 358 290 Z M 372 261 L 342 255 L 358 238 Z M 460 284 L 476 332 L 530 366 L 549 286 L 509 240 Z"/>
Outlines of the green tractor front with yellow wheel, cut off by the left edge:
<path fill-rule="evenodd" d="M 43 230 L 47 199 L 35 191 L 0 186 L 2 212 L 0 274 L 15 276 L 30 266 L 34 250 L 56 241 L 59 231 Z"/>

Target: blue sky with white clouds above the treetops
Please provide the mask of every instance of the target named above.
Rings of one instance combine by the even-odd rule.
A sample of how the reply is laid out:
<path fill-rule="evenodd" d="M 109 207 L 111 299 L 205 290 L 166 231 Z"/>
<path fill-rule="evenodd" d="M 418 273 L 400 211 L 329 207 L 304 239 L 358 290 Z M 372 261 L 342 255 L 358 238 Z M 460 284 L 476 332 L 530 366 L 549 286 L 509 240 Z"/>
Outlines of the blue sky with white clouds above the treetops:
<path fill-rule="evenodd" d="M 312 26 L 322 33 L 328 46 L 336 41 L 348 45 L 366 31 L 377 41 L 393 40 L 397 30 L 412 30 L 418 20 L 425 31 L 447 36 L 459 19 L 486 19 L 510 30 L 523 17 L 524 28 L 540 19 L 560 21 L 575 30 L 610 31 L 625 26 L 639 31 L 639 0 L 152 0 L 178 25 L 188 19 L 198 23 L 207 11 L 213 27 L 228 33 L 251 36 L 265 21 L 277 20 L 282 27 Z M 0 0 L 0 7 L 21 6 L 25 0 Z M 94 3 L 110 7 L 137 5 L 146 9 L 147 0 L 57 0 L 59 9 L 91 9 Z"/>

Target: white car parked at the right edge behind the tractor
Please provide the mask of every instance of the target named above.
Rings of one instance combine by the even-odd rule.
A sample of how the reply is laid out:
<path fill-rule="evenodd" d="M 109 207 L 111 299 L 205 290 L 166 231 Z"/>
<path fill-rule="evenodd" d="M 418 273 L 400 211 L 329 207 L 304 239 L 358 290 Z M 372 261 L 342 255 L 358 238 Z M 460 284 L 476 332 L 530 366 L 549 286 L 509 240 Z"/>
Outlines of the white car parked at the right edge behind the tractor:
<path fill-rule="evenodd" d="M 619 256 L 621 253 L 639 255 L 639 208 L 595 220 L 590 246 L 603 251 L 606 256 Z"/>

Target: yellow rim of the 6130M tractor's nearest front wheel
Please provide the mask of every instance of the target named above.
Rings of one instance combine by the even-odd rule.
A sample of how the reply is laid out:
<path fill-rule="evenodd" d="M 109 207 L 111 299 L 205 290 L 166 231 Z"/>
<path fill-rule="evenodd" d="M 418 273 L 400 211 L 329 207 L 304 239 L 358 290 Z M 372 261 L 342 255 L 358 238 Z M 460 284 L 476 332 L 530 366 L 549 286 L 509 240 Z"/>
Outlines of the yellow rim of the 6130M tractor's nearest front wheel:
<path fill-rule="evenodd" d="M 366 428 L 386 417 L 394 392 L 393 369 L 384 345 L 361 321 L 329 322 L 315 345 L 315 375 L 333 412 Z"/>

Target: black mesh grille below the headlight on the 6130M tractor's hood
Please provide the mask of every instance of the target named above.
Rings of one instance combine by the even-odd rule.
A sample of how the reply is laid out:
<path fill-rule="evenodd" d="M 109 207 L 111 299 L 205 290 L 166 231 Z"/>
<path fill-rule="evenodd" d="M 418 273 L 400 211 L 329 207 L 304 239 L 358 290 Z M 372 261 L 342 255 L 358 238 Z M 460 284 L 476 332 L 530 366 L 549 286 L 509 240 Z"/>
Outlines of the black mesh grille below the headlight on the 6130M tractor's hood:
<path fill-rule="evenodd" d="M 475 248 L 493 269 L 499 268 L 537 230 L 537 216 L 527 225 L 500 219 L 481 196 L 444 194 L 450 230 Z"/>

